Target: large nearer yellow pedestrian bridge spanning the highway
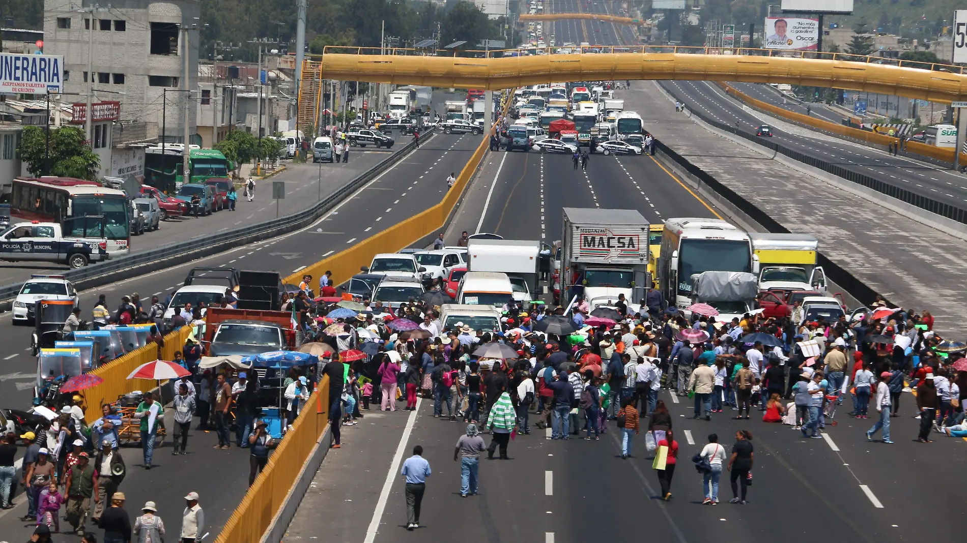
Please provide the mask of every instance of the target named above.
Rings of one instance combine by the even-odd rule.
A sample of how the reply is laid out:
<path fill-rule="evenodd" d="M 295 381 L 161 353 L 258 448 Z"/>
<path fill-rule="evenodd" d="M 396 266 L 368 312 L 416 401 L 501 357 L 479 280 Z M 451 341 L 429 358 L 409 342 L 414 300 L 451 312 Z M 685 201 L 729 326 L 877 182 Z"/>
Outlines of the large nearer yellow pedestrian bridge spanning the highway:
<path fill-rule="evenodd" d="M 690 79 L 831 87 L 947 103 L 967 100 L 967 74 L 951 65 L 749 48 L 588 45 L 577 50 L 441 56 L 414 49 L 327 46 L 321 56 L 307 57 L 302 77 L 307 82 L 341 79 L 490 90 L 565 81 Z"/>

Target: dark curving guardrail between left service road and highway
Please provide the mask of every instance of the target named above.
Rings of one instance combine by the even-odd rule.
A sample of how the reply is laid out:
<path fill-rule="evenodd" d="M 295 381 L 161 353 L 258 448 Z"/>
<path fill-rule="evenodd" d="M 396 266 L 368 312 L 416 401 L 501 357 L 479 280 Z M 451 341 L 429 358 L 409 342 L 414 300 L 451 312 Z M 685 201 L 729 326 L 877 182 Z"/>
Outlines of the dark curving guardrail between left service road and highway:
<path fill-rule="evenodd" d="M 434 129 L 435 127 L 427 129 L 425 134 L 432 133 Z M 415 147 L 416 143 L 411 141 L 401 151 L 384 158 L 378 164 L 369 168 L 366 172 L 360 174 L 333 194 L 326 196 L 320 202 L 301 212 L 264 220 L 244 228 L 235 228 L 212 233 L 207 236 L 199 236 L 185 242 L 168 243 L 151 250 L 112 258 L 103 263 L 92 264 L 84 268 L 64 272 L 63 275 L 73 282 L 77 288 L 88 289 L 136 275 L 157 272 L 189 260 L 217 254 L 226 249 L 293 232 L 308 226 L 312 221 L 332 210 L 340 201 L 355 192 L 360 186 L 366 185 L 373 178 L 394 166 L 397 161 L 415 149 Z M 0 300 L 14 299 L 22 287 L 22 281 L 0 286 Z"/>

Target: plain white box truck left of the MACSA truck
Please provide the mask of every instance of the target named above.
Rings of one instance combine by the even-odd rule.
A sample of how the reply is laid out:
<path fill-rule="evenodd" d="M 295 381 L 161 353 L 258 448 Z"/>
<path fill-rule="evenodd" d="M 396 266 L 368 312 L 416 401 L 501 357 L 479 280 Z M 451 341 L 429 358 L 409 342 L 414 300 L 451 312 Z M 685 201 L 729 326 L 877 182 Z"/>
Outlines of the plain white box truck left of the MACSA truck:
<path fill-rule="evenodd" d="M 468 272 L 503 272 L 511 279 L 513 300 L 537 299 L 541 242 L 528 240 L 470 240 Z"/>

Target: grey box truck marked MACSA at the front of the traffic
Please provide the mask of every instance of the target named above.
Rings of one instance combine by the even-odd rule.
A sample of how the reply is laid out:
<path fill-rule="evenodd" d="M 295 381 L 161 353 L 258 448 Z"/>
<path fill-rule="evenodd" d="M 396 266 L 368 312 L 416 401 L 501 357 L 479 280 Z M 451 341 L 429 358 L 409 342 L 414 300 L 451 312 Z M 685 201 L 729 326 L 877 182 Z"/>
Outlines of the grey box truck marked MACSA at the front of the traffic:
<path fill-rule="evenodd" d="M 583 295 L 594 308 L 613 305 L 624 295 L 629 310 L 639 310 L 651 282 L 645 217 L 635 210 L 564 208 L 562 213 L 560 261 L 555 265 L 561 301 Z"/>

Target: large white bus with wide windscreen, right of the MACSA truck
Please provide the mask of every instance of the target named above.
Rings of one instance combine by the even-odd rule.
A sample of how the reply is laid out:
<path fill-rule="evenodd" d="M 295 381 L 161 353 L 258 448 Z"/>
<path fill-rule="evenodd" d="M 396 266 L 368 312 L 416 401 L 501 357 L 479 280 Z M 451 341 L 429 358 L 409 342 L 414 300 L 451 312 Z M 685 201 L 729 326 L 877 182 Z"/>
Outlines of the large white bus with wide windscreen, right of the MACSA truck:
<path fill-rule="evenodd" d="M 661 232 L 659 285 L 679 311 L 691 305 L 691 276 L 701 272 L 759 272 L 748 234 L 715 218 L 669 218 Z"/>

